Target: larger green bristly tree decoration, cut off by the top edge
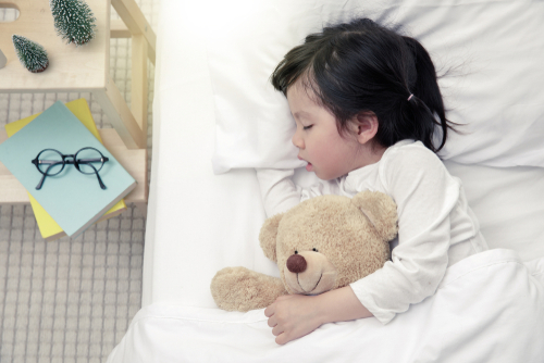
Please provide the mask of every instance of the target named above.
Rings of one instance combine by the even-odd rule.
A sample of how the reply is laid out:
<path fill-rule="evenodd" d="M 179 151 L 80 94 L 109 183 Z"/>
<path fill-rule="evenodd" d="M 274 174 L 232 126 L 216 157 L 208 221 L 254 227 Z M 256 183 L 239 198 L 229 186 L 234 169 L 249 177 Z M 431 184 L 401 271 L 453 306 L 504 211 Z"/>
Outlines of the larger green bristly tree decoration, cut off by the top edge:
<path fill-rule="evenodd" d="M 83 0 L 49 0 L 57 34 L 67 43 L 83 46 L 95 38 L 96 17 Z"/>

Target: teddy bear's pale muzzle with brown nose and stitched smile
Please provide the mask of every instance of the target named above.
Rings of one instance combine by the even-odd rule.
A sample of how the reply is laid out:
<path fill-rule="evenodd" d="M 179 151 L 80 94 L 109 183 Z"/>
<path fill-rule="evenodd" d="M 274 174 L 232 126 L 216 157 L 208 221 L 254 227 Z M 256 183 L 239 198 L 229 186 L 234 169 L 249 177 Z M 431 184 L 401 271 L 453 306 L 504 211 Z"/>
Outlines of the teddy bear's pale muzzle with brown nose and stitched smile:
<path fill-rule="evenodd" d="M 290 293 L 318 295 L 331 290 L 336 283 L 336 268 L 320 252 L 292 254 L 285 266 L 285 281 Z"/>

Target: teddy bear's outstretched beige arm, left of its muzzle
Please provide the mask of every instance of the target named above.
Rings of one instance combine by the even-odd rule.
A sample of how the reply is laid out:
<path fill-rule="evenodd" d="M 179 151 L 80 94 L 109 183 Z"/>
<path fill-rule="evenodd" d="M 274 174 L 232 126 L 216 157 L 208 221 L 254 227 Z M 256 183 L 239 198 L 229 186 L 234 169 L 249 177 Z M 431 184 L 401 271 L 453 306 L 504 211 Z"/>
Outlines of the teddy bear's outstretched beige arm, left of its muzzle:
<path fill-rule="evenodd" d="M 246 267 L 225 267 L 211 281 L 211 295 L 220 309 L 246 312 L 262 309 L 287 293 L 280 278 Z"/>

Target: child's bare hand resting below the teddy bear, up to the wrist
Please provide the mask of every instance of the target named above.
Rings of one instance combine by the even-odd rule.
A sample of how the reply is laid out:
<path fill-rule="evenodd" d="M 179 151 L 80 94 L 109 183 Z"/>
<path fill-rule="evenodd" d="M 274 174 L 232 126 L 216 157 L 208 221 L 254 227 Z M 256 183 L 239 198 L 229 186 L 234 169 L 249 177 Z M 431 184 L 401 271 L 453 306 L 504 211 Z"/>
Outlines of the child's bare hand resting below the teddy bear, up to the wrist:
<path fill-rule="evenodd" d="M 269 326 L 276 336 L 275 342 L 285 345 L 304 337 L 323 324 L 318 313 L 317 297 L 304 295 L 286 295 L 277 298 L 264 310 L 269 317 Z"/>

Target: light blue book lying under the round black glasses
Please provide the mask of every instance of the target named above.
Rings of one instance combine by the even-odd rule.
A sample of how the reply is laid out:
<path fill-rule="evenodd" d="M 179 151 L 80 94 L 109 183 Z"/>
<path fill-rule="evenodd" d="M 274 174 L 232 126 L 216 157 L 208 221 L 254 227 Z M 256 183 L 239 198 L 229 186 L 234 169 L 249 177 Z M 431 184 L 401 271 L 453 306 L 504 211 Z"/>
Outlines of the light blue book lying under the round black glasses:
<path fill-rule="evenodd" d="M 102 162 L 95 150 L 83 150 L 78 166 L 87 174 L 76 168 L 71 157 L 61 171 L 62 157 L 54 151 L 37 159 L 45 149 L 74 155 L 83 148 L 104 157 Z M 136 180 L 61 101 L 0 143 L 0 161 L 70 237 L 82 234 L 136 187 Z M 95 170 L 100 166 L 98 177 Z"/>

